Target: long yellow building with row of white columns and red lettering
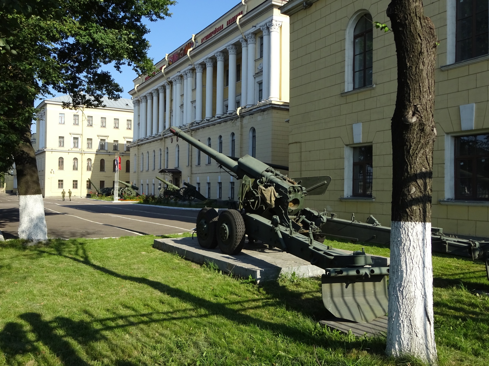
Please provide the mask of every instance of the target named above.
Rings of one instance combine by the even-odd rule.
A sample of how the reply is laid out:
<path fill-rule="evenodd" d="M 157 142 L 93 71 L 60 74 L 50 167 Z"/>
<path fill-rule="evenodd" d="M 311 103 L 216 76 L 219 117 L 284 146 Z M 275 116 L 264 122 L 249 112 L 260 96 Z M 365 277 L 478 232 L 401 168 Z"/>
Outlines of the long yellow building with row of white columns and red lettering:
<path fill-rule="evenodd" d="M 170 126 L 229 156 L 288 165 L 289 19 L 278 10 L 285 2 L 240 2 L 157 62 L 155 75 L 134 80 L 131 182 L 143 193 L 158 194 L 161 173 L 208 198 L 237 199 L 239 183 Z"/>

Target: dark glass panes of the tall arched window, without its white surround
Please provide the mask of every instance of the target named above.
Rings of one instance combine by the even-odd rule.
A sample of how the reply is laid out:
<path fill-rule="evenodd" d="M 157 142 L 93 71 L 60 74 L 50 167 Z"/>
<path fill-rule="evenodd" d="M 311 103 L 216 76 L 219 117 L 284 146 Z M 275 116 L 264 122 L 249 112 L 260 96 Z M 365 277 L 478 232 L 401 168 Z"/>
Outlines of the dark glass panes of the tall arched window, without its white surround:
<path fill-rule="evenodd" d="M 353 88 L 372 85 L 372 16 L 364 14 L 353 32 Z"/>

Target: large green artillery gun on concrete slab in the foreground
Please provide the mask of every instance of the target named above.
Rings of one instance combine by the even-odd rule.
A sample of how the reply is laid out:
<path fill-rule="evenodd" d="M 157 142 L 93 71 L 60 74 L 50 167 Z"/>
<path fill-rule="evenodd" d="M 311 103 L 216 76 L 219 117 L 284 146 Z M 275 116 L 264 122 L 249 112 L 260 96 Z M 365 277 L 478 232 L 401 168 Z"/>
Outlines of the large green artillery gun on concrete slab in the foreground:
<path fill-rule="evenodd" d="M 314 236 L 321 234 L 329 218 L 326 212 L 304 207 L 308 192 L 303 185 L 249 155 L 236 162 L 176 127 L 170 131 L 242 181 L 238 210 L 225 210 L 221 215 L 207 207 L 200 210 L 196 226 L 202 247 L 219 245 L 223 253 L 238 254 L 246 234 L 248 239 L 278 247 L 323 268 L 323 303 L 333 315 L 368 322 L 387 312 L 389 259 L 315 241 Z M 329 183 L 331 178 L 323 181 Z M 318 184 L 327 188 L 320 182 L 313 185 Z"/>

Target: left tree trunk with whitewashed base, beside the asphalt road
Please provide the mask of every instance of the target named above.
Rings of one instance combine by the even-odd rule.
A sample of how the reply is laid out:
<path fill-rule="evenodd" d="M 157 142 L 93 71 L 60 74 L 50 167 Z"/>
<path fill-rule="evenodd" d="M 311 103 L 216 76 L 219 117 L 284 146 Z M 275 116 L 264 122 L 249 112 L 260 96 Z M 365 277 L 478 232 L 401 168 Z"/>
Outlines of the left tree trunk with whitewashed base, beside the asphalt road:
<path fill-rule="evenodd" d="M 14 155 L 19 192 L 19 238 L 40 241 L 47 240 L 47 226 L 36 154 L 30 140 L 30 129 L 26 129 Z"/>

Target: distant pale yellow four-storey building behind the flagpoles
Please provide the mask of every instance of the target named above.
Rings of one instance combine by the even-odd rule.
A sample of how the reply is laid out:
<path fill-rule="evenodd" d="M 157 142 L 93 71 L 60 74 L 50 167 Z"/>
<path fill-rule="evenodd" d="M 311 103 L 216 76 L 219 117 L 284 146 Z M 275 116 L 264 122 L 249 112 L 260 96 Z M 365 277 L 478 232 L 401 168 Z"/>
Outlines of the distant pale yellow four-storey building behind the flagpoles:
<path fill-rule="evenodd" d="M 37 107 L 35 149 L 43 196 L 60 197 L 70 189 L 72 197 L 86 197 L 95 186 L 112 187 L 117 153 L 119 180 L 129 182 L 132 100 L 104 97 L 105 107 L 77 110 L 64 109 L 63 102 L 69 102 L 69 96 L 44 100 Z"/>

